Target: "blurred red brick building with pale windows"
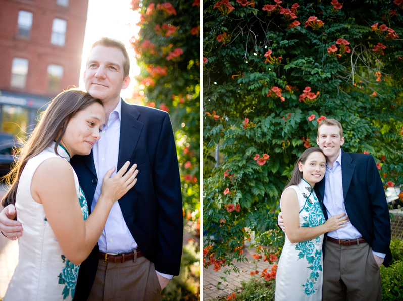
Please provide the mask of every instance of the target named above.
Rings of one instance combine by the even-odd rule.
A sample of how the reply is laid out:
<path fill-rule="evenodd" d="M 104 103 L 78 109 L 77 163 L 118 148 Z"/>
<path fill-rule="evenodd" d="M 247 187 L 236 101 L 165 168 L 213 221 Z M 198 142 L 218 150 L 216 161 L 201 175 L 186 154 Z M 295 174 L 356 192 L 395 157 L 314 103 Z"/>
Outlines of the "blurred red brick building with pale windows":
<path fill-rule="evenodd" d="M 0 0 L 0 140 L 24 136 L 38 110 L 78 86 L 87 9 L 88 0 Z"/>

